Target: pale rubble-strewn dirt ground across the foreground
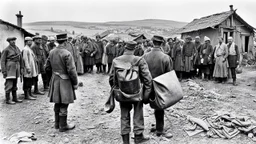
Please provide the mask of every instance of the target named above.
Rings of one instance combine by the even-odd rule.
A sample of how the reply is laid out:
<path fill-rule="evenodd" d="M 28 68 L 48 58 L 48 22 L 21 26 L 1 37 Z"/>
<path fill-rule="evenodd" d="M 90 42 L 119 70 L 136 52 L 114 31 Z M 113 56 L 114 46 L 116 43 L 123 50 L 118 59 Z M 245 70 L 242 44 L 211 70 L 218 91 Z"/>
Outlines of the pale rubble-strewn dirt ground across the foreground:
<path fill-rule="evenodd" d="M 175 106 L 166 110 L 165 128 L 173 134 L 173 138 L 164 139 L 150 133 L 154 123 L 153 110 L 149 105 L 144 107 L 145 134 L 151 137 L 147 144 L 250 144 L 255 143 L 245 134 L 239 134 L 233 139 L 208 138 L 205 134 L 189 137 L 184 131 L 187 120 L 184 115 L 201 118 L 218 112 L 232 112 L 246 115 L 256 120 L 256 68 L 247 67 L 237 75 L 239 86 L 234 87 L 231 81 L 226 84 L 216 84 L 194 80 L 204 90 L 218 93 L 216 97 L 198 94 L 188 86 L 187 81 L 181 82 L 184 98 Z M 47 94 L 38 96 L 36 101 L 25 100 L 21 104 L 6 105 L 4 102 L 4 79 L 0 75 L 0 143 L 13 133 L 20 131 L 35 132 L 37 140 L 31 144 L 120 144 L 120 110 L 116 108 L 111 114 L 104 112 L 104 103 L 110 87 L 108 76 L 103 74 L 85 74 L 79 76 L 83 87 L 76 91 L 77 100 L 69 107 L 68 120 L 76 123 L 76 128 L 60 133 L 53 128 L 53 104 L 49 103 Z M 42 83 L 40 83 L 42 87 Z M 22 86 L 19 83 L 18 95 L 22 98 Z M 133 140 L 131 140 L 133 143 Z"/>

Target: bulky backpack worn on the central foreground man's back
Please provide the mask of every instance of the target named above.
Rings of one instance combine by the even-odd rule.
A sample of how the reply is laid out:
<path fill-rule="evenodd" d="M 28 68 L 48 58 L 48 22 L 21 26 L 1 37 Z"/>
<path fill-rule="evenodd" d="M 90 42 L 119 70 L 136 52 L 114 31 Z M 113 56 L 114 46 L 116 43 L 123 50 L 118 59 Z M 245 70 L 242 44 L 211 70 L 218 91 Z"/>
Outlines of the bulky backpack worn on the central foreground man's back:
<path fill-rule="evenodd" d="M 138 102 L 142 100 L 142 84 L 139 77 L 138 62 L 141 58 L 132 57 L 131 62 L 116 62 L 114 65 L 118 86 L 114 95 L 119 102 Z"/>

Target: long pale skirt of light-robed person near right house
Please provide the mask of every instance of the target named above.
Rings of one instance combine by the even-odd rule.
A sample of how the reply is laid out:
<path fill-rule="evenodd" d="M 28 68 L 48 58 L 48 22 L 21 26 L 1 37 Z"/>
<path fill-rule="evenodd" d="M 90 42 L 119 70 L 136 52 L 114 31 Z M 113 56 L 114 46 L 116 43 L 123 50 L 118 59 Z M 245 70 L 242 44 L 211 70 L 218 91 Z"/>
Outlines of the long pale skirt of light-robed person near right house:
<path fill-rule="evenodd" d="M 217 57 L 215 67 L 213 71 L 213 77 L 215 78 L 227 78 L 228 77 L 228 62 L 223 62 L 224 57 Z"/>

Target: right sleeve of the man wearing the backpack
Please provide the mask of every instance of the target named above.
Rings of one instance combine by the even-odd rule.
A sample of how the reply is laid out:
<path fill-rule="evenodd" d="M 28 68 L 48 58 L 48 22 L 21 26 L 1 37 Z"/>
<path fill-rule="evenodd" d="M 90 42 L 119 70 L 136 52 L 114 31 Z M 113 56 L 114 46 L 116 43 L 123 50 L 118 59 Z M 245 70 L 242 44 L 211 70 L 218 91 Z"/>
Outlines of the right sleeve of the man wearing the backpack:
<path fill-rule="evenodd" d="M 139 70 L 140 70 L 141 82 L 143 83 L 143 87 L 144 87 L 143 102 L 148 103 L 149 96 L 152 90 L 152 76 L 150 74 L 148 64 L 146 63 L 144 58 L 141 58 L 139 62 Z"/>

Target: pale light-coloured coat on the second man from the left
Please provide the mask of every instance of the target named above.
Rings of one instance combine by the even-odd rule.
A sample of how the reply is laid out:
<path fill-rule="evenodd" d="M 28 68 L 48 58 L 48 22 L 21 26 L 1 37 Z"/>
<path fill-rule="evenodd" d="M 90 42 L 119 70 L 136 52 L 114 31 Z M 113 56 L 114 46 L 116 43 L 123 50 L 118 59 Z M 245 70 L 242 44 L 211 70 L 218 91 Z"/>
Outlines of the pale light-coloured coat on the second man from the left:
<path fill-rule="evenodd" d="M 22 50 L 22 60 L 23 76 L 26 78 L 36 77 L 38 75 L 36 56 L 28 45 Z M 28 70 L 30 70 L 30 73 L 28 73 Z"/>

